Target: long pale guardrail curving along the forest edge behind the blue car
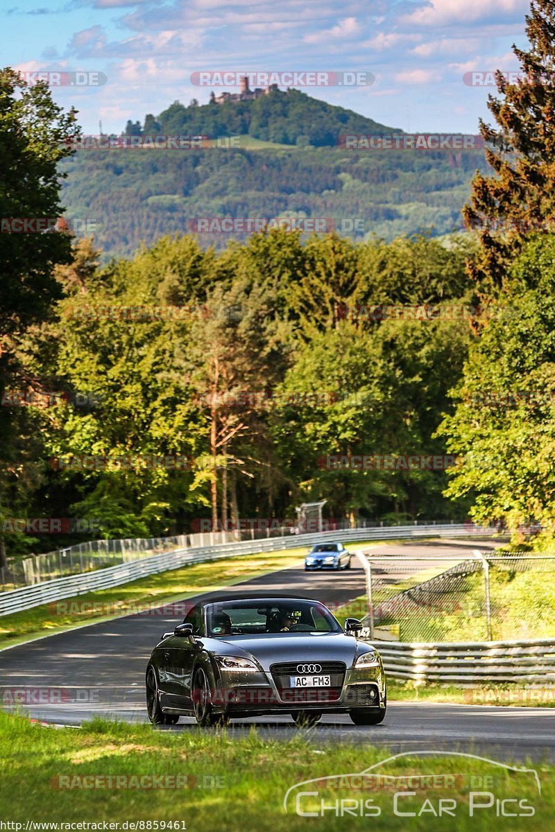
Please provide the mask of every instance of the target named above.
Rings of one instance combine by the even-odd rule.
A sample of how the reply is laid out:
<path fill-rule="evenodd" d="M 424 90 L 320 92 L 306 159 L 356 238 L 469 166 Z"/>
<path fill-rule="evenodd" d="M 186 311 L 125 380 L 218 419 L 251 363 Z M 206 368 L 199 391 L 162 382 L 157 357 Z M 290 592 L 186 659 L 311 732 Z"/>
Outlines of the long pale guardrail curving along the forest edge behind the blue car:
<path fill-rule="evenodd" d="M 484 532 L 487 533 L 487 532 Z M 221 543 L 189 549 L 174 549 L 161 555 L 144 557 L 141 560 L 120 563 L 115 567 L 82 572 L 78 575 L 54 578 L 51 581 L 33 584 L 30 587 L 7 590 L 0 593 L 0 616 L 10 612 L 39 607 L 64 598 L 84 595 L 99 589 L 118 587 L 122 583 L 136 581 L 146 575 L 156 575 L 169 569 L 178 569 L 193 563 L 215 561 L 221 557 L 277 552 L 280 549 L 310 547 L 323 539 L 333 542 L 356 542 L 372 540 L 409 539 L 411 537 L 476 537 L 475 529 L 461 524 L 437 524 L 429 526 L 390 526 L 375 528 L 352 528 L 334 532 L 269 537 L 260 540 Z"/>

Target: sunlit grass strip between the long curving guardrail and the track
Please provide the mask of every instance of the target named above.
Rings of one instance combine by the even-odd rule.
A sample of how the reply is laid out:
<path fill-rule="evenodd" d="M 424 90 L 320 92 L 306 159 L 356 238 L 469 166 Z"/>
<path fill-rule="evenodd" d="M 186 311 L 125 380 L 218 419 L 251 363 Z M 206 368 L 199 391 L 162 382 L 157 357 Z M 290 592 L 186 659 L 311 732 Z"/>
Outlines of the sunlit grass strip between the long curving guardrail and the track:
<path fill-rule="evenodd" d="M 226 557 L 14 612 L 0 618 L 0 649 L 37 636 L 49 636 L 75 626 L 139 612 L 146 604 L 160 606 L 196 595 L 199 590 L 208 592 L 230 587 L 266 572 L 293 567 L 300 563 L 304 553 L 305 547 L 271 554 Z"/>

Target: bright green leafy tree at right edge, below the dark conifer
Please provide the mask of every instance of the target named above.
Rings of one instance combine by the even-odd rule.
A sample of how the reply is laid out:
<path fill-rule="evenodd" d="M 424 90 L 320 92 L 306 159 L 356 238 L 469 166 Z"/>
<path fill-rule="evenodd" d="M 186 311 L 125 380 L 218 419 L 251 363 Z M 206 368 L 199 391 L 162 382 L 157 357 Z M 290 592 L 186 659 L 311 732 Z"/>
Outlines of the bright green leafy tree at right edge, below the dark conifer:
<path fill-rule="evenodd" d="M 449 498 L 473 497 L 477 522 L 515 532 L 555 523 L 555 241 L 537 235 L 508 275 L 510 305 L 494 302 L 440 434 L 460 456 Z M 509 316 L 510 313 L 510 316 Z"/>

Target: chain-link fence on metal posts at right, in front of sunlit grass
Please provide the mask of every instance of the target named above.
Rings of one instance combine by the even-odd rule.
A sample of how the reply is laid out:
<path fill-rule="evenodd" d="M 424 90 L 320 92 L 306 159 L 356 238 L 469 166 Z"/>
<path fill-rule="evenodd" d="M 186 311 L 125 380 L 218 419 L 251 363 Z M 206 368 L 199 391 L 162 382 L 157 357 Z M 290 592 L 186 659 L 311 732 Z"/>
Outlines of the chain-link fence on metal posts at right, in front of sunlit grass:
<path fill-rule="evenodd" d="M 503 641 L 555 636 L 555 554 L 369 557 L 377 640 Z"/>

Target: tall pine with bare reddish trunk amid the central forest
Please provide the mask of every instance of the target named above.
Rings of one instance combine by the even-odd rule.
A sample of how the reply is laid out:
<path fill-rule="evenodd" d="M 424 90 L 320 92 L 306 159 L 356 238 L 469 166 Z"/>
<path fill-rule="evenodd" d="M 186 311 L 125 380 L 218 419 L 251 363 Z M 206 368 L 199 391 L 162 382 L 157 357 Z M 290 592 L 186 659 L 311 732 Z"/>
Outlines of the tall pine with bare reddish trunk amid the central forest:
<path fill-rule="evenodd" d="M 242 272 L 242 270 L 241 270 Z M 191 383 L 204 404 L 210 430 L 211 512 L 218 522 L 218 482 L 221 479 L 221 519 L 227 522 L 228 486 L 232 521 L 237 522 L 235 486 L 244 478 L 267 476 L 272 459 L 263 416 L 265 391 L 275 387 L 283 366 L 280 344 L 285 340 L 275 319 L 269 287 L 253 285 L 250 275 L 238 275 L 229 290 L 217 286 L 206 300 L 206 319 L 191 328 Z M 230 469 L 230 483 L 227 471 Z M 221 471 L 221 478 L 219 472 Z M 271 487 L 269 488 L 271 493 Z M 271 498 L 270 498 L 271 503 Z"/>

